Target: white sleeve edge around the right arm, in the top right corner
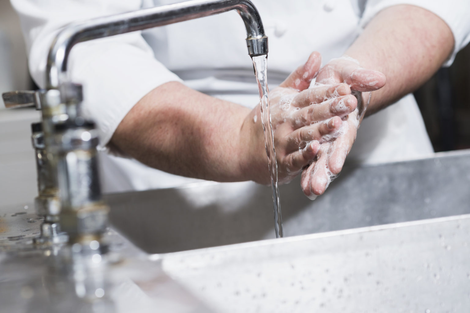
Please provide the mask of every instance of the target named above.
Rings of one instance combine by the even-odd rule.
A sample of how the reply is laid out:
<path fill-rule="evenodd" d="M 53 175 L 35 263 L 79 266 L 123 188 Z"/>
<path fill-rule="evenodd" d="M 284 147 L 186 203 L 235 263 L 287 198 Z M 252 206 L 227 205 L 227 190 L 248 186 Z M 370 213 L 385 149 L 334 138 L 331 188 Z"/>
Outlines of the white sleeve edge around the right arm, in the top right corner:
<path fill-rule="evenodd" d="M 469 0 L 368 0 L 362 15 L 360 26 L 367 23 L 381 10 L 394 5 L 409 4 L 424 8 L 439 16 L 454 34 L 454 51 L 444 64 L 450 66 L 455 54 L 470 41 L 470 1 Z"/>

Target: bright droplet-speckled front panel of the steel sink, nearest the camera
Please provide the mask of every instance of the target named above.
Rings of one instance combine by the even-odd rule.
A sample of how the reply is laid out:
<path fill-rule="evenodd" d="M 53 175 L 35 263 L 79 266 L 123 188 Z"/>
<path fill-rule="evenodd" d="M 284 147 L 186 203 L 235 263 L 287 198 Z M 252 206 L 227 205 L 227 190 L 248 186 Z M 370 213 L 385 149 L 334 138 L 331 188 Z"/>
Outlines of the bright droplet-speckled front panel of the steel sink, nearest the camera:
<path fill-rule="evenodd" d="M 220 313 L 469 312 L 470 214 L 153 255 Z"/>

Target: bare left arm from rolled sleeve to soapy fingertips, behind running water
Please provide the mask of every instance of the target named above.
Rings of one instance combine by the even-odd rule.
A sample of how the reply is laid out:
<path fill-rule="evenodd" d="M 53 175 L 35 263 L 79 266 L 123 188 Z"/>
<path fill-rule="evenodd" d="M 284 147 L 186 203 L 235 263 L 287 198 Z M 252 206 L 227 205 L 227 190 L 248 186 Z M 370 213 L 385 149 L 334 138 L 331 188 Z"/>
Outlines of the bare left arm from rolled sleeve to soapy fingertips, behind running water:
<path fill-rule="evenodd" d="M 320 54 L 312 53 L 304 66 L 271 93 L 276 157 L 283 182 L 311 162 L 321 137 L 339 129 L 341 117 L 357 104 L 346 84 L 307 89 L 320 64 Z M 323 101 L 333 93 L 339 97 Z M 286 99 L 289 108 L 282 108 Z M 337 109 L 341 99 L 349 99 L 351 106 Z M 308 110 L 312 102 L 319 103 L 314 112 Z M 303 142 L 310 144 L 299 149 Z M 119 124 L 111 144 L 151 167 L 182 176 L 259 183 L 270 179 L 259 107 L 250 110 L 177 82 L 163 84 L 144 96 Z"/>

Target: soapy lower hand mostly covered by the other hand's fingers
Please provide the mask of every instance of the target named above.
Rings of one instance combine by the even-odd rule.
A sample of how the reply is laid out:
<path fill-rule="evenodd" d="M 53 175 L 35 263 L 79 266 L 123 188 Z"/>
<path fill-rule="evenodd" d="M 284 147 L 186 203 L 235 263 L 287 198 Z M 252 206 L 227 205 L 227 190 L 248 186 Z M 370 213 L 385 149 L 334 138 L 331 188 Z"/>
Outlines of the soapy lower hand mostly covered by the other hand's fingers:
<path fill-rule="evenodd" d="M 370 92 L 382 88 L 385 81 L 381 72 L 362 69 L 358 61 L 347 56 L 329 61 L 320 70 L 316 84 L 348 84 L 357 99 L 357 108 L 343 118 L 337 136 L 321 144 L 316 159 L 302 172 L 301 187 L 307 197 L 313 199 L 321 195 L 339 174 L 356 140 L 357 130 L 368 107 Z"/>

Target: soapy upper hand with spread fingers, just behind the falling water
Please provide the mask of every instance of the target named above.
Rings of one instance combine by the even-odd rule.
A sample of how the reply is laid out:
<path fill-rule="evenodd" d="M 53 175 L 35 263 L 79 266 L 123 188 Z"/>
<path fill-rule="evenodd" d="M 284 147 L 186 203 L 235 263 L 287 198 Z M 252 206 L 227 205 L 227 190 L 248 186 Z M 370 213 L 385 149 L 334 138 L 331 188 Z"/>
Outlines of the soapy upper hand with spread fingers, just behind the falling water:
<path fill-rule="evenodd" d="M 307 89 L 320 65 L 320 54 L 312 53 L 305 65 L 270 92 L 271 124 L 280 183 L 289 182 L 310 164 L 320 144 L 340 130 L 343 124 L 341 119 L 357 107 L 357 100 L 351 95 L 348 84 L 339 82 Z M 259 106 L 247 116 L 244 125 L 250 126 L 252 134 L 249 136 L 251 139 L 246 140 L 258 140 L 258 144 L 246 143 L 254 147 L 256 157 L 251 160 L 257 162 L 256 165 L 251 164 L 248 170 L 259 168 L 254 180 L 267 184 L 270 178 L 265 149 L 260 147 L 264 146 L 264 135 Z"/>

